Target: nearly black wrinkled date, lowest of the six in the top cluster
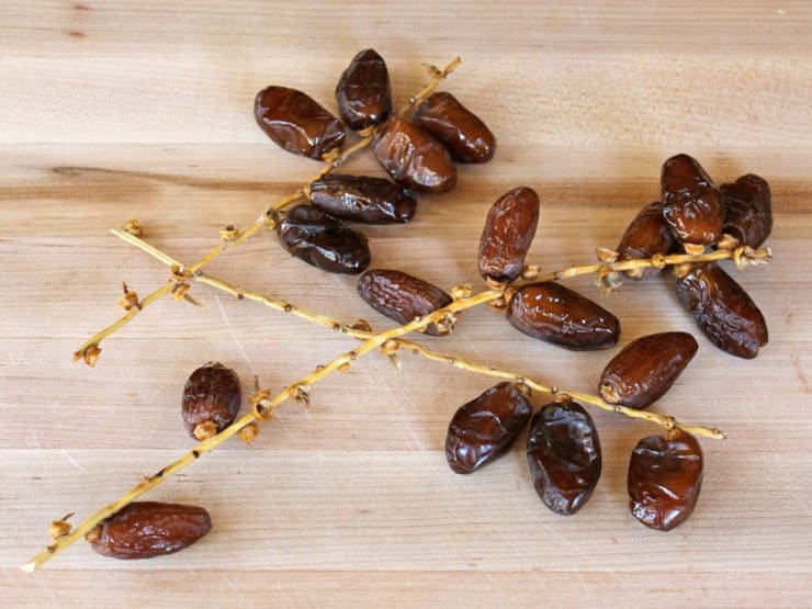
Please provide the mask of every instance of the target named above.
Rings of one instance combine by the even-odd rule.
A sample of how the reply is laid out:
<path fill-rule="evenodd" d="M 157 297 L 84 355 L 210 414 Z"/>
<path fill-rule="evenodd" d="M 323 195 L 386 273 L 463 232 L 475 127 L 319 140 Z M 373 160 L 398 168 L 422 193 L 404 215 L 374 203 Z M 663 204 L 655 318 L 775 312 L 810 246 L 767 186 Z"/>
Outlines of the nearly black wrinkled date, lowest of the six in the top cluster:
<path fill-rule="evenodd" d="M 311 205 L 285 214 L 279 240 L 296 258 L 331 273 L 358 274 L 370 266 L 366 237 Z"/>

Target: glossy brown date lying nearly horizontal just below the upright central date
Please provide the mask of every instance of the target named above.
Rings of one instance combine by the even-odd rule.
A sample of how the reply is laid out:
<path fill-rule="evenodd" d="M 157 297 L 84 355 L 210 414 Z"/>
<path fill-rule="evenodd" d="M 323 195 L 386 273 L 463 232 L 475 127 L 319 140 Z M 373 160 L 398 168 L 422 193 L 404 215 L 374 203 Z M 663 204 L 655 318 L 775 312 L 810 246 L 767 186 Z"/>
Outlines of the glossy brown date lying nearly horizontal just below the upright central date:
<path fill-rule="evenodd" d="M 614 347 L 620 322 L 611 313 L 557 283 L 531 283 L 510 298 L 507 319 L 526 335 L 587 351 Z"/>

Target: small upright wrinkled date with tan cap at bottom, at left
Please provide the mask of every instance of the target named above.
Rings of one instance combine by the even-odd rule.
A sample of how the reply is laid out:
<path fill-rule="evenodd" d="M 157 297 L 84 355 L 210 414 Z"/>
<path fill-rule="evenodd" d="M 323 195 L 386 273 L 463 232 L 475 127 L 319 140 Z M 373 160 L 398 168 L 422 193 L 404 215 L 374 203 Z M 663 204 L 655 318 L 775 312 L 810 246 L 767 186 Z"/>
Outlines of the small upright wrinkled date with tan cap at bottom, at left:
<path fill-rule="evenodd" d="M 187 431 L 199 440 L 223 431 L 234 422 L 241 399 L 243 388 L 234 370 L 217 362 L 204 364 L 192 372 L 183 387 L 181 415 Z"/>

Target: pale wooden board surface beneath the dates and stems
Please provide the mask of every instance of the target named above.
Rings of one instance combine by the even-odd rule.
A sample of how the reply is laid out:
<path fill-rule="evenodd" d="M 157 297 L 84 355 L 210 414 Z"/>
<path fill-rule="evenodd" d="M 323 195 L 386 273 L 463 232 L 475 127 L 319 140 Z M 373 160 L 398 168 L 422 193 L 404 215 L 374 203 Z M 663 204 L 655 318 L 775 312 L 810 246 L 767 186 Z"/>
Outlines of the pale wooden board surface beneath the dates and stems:
<path fill-rule="evenodd" d="M 497 5 L 498 4 L 498 5 Z M 415 222 L 364 229 L 375 267 L 451 286 L 478 281 L 487 206 L 527 184 L 542 199 L 533 261 L 593 260 L 658 193 L 662 161 L 692 154 L 718 181 L 756 172 L 774 192 L 775 261 L 736 273 L 769 323 L 744 361 L 710 345 L 668 279 L 604 304 L 621 345 L 663 330 L 700 350 L 654 408 L 723 428 L 703 441 L 693 517 L 664 534 L 629 514 L 631 449 L 657 428 L 595 414 L 605 470 L 576 516 L 553 515 L 528 478 L 522 436 L 459 476 L 448 420 L 494 382 L 414 357 L 397 374 L 370 356 L 286 405 L 252 446 L 233 441 L 153 492 L 205 506 L 213 532 L 145 562 L 82 542 L 45 568 L 15 568 L 65 512 L 87 516 L 192 446 L 188 374 L 212 359 L 279 388 L 353 342 L 195 285 L 205 306 L 165 300 L 103 343 L 121 282 L 144 295 L 166 269 L 109 235 L 137 217 L 147 238 L 195 260 L 229 222 L 250 223 L 317 165 L 257 128 L 269 83 L 335 108 L 361 48 L 390 67 L 396 102 L 424 61 L 463 65 L 444 88 L 498 137 L 493 162 L 421 198 Z M 16 607 L 803 606 L 812 605 L 812 5 L 703 2 L 0 3 L 0 605 Z M 380 174 L 365 155 L 349 168 Z M 262 234 L 211 271 L 342 320 L 390 323 Z M 571 281 L 599 298 L 588 279 Z M 595 391 L 613 352 L 534 341 L 469 312 L 447 340 L 481 362 Z M 541 398 L 537 404 L 542 404 Z"/>

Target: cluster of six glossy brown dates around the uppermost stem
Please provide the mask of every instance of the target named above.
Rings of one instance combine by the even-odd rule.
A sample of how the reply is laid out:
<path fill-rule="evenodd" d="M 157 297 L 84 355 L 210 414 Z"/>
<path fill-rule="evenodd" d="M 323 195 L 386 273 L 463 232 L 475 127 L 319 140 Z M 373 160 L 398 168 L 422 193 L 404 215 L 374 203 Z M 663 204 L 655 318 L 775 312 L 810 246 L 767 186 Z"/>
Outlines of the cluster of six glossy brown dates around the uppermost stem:
<path fill-rule="evenodd" d="M 398 224 L 417 208 L 415 191 L 441 193 L 456 184 L 458 162 L 490 160 L 496 140 L 485 124 L 450 93 L 433 93 L 411 120 L 392 113 L 390 77 L 373 49 L 360 52 L 336 87 L 341 120 L 301 91 L 271 86 L 255 101 L 257 123 L 289 153 L 329 159 L 347 127 L 376 129 L 372 151 L 394 180 L 326 174 L 306 189 L 311 201 L 290 210 L 279 239 L 290 253 L 319 269 L 357 274 L 370 264 L 365 236 L 345 222 Z"/>

